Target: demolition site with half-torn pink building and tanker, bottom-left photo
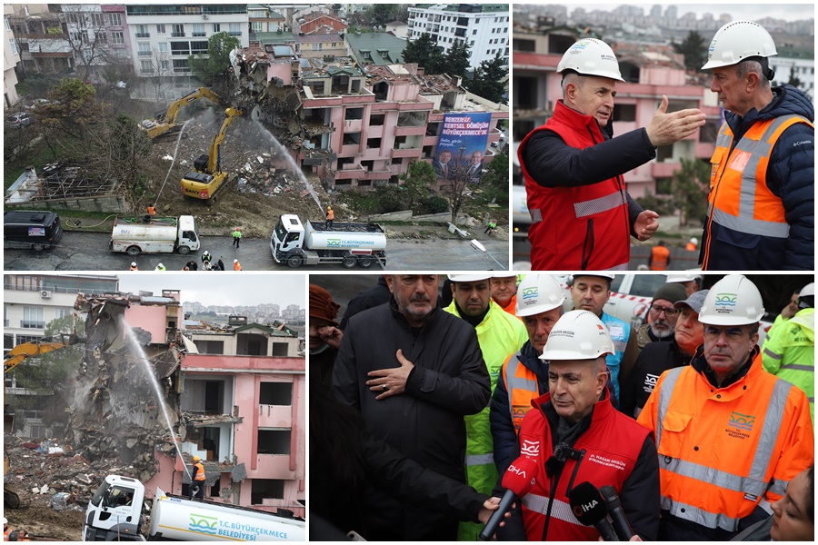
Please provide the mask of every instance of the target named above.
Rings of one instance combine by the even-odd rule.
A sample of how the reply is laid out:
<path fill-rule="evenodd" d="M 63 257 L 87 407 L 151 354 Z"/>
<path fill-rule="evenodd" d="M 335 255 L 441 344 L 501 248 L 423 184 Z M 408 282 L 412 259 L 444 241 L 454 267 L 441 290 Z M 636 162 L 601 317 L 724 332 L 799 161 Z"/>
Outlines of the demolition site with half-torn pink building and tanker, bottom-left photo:
<path fill-rule="evenodd" d="M 294 331 L 242 316 L 185 320 L 177 290 L 80 293 L 74 311 L 75 333 L 6 353 L 11 528 L 34 540 L 304 540 L 304 345 Z M 48 365 L 46 352 L 73 358 L 65 386 L 18 386 L 15 367 Z M 10 409 L 20 398 L 41 411 Z M 30 416 L 45 438 L 26 439 Z M 187 506 L 192 491 L 203 500 Z M 207 528 L 188 527 L 185 509 L 210 510 Z"/>

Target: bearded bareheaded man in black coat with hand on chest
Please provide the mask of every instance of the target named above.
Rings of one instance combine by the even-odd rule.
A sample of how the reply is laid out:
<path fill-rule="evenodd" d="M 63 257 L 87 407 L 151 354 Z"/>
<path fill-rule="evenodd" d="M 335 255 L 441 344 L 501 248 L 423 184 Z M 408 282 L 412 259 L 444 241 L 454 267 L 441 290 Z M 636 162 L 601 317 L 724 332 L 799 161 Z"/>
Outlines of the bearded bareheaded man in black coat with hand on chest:
<path fill-rule="evenodd" d="M 437 308 L 439 281 L 437 274 L 386 277 L 392 299 L 356 314 L 344 331 L 333 393 L 360 411 L 375 438 L 465 482 L 464 416 L 488 404 L 491 381 L 474 326 Z M 431 505 L 372 490 L 364 510 L 367 540 L 457 536 L 457 520 Z"/>

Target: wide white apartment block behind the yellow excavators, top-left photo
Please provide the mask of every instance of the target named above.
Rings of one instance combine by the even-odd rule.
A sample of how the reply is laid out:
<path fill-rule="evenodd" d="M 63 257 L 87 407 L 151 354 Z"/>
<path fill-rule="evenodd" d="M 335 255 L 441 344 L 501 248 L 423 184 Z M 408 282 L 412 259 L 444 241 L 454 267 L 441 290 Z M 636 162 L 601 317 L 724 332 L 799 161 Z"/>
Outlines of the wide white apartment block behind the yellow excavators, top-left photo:
<path fill-rule="evenodd" d="M 199 84 L 192 78 L 188 56 L 207 54 L 207 41 L 226 32 L 242 47 L 250 43 L 246 4 L 125 5 L 134 69 L 141 78 L 165 78 L 156 94 L 177 98 Z"/>

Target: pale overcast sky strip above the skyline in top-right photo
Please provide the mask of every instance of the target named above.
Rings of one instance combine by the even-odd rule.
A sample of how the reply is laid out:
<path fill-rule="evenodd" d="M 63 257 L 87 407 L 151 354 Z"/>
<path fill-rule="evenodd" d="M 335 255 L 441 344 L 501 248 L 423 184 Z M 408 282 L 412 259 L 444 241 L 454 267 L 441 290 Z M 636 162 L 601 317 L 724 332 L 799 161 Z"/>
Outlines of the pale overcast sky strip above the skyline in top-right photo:
<path fill-rule="evenodd" d="M 563 4 L 563 3 L 560 3 Z M 815 16 L 815 4 L 774 4 L 772 2 L 751 3 L 751 2 L 719 2 L 717 4 L 663 4 L 662 2 L 628 2 L 620 4 L 572 4 L 568 6 L 568 14 L 574 11 L 576 7 L 582 7 L 586 12 L 594 11 L 595 9 L 613 11 L 614 8 L 620 5 L 635 5 L 643 8 L 644 15 L 650 15 L 653 5 L 661 5 L 662 13 L 669 5 L 675 5 L 679 16 L 687 12 L 696 14 L 696 18 L 701 19 L 702 14 L 711 13 L 713 18 L 718 20 L 719 15 L 730 14 L 733 16 L 733 21 L 739 19 L 749 19 L 755 21 L 763 17 L 773 17 L 774 19 L 783 19 L 784 21 L 799 21 L 802 19 L 812 19 Z"/>

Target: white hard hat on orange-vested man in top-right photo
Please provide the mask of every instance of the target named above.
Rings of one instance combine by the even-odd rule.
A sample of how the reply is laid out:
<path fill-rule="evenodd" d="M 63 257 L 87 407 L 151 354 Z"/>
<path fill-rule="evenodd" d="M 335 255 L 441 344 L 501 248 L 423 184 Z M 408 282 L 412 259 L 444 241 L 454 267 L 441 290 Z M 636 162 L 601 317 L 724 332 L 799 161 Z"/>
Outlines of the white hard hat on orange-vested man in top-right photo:
<path fill-rule="evenodd" d="M 753 21 L 733 21 L 716 31 L 702 70 L 739 64 L 744 59 L 778 54 L 773 36 Z"/>

